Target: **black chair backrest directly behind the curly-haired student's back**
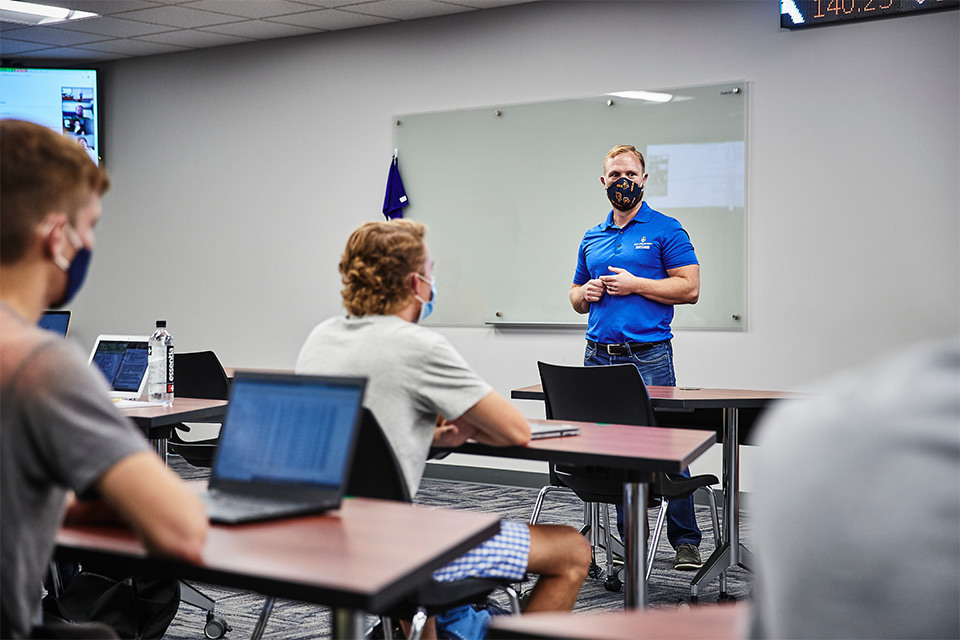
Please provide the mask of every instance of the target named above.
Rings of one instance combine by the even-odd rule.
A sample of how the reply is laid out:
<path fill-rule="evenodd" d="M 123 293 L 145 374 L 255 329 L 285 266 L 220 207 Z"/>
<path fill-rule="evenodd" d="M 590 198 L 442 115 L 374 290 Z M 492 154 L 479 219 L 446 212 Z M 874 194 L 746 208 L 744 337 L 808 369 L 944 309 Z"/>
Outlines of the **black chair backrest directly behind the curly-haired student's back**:
<path fill-rule="evenodd" d="M 346 494 L 397 502 L 413 501 L 393 446 L 380 423 L 366 407 L 363 408 L 360 421 L 360 435 Z"/>

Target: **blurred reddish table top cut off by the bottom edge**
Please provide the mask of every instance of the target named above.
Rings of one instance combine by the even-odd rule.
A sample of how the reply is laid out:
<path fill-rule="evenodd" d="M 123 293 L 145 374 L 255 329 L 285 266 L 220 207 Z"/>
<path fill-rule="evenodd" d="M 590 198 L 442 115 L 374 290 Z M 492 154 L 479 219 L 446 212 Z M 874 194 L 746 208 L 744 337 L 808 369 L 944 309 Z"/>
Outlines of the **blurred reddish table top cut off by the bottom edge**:
<path fill-rule="evenodd" d="M 699 605 L 688 609 L 528 613 L 496 616 L 490 638 L 561 640 L 739 640 L 747 637 L 750 605 Z"/>

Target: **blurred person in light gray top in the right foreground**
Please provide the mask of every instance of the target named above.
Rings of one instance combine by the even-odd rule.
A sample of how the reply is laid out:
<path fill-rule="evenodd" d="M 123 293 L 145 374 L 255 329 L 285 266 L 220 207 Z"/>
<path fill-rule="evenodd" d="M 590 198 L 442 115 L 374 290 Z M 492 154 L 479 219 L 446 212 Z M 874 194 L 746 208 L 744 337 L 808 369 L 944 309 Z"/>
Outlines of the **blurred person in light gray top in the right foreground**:
<path fill-rule="evenodd" d="M 915 347 L 763 422 L 754 638 L 960 637 L 960 348 Z"/>

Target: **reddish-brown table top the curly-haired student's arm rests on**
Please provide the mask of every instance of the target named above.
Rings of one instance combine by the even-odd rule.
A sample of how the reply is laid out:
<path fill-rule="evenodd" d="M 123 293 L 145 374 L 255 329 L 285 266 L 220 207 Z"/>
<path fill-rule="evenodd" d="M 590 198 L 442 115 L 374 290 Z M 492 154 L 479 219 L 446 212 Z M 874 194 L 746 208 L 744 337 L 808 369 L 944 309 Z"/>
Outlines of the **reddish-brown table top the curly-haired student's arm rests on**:
<path fill-rule="evenodd" d="M 681 471 L 716 442 L 716 433 L 697 429 L 667 429 L 594 424 L 569 420 L 530 420 L 531 423 L 572 424 L 575 436 L 533 440 L 526 447 L 492 447 L 467 442 L 457 453 L 546 460 L 560 464 L 595 465 L 630 471 Z"/>

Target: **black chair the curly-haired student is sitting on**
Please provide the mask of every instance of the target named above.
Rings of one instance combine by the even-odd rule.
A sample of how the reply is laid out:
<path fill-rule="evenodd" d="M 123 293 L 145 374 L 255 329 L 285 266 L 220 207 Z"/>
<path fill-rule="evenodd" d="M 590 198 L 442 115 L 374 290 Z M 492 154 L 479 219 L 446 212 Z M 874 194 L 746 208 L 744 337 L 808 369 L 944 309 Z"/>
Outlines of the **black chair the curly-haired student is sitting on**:
<path fill-rule="evenodd" d="M 363 409 L 357 451 L 347 481 L 347 495 L 397 502 L 412 502 L 400 462 L 383 429 L 369 409 Z M 504 580 L 467 578 L 456 582 L 431 580 L 403 602 L 381 616 L 386 637 L 392 635 L 390 618 L 412 620 L 410 640 L 416 640 L 429 616 L 467 604 L 486 601 L 490 592 L 503 587 L 513 613 L 520 613 L 516 592 Z"/>

